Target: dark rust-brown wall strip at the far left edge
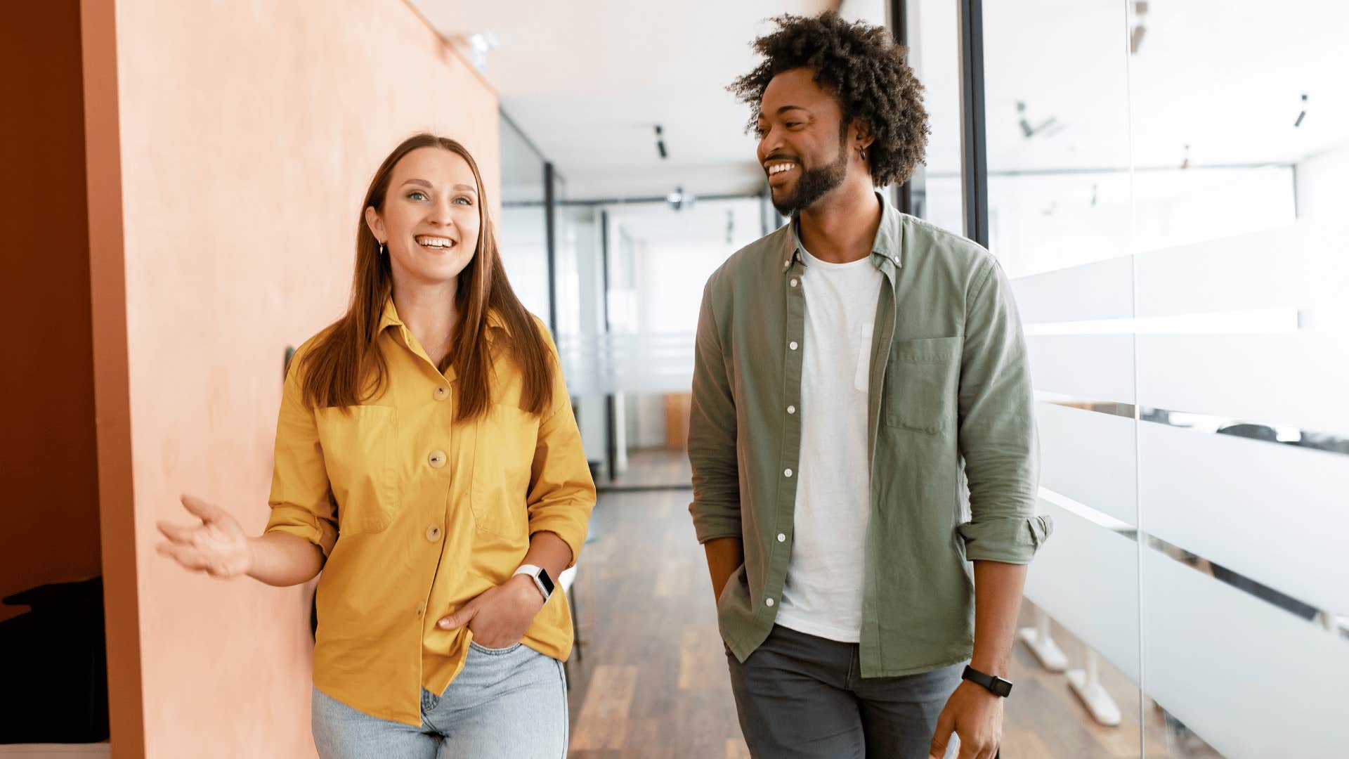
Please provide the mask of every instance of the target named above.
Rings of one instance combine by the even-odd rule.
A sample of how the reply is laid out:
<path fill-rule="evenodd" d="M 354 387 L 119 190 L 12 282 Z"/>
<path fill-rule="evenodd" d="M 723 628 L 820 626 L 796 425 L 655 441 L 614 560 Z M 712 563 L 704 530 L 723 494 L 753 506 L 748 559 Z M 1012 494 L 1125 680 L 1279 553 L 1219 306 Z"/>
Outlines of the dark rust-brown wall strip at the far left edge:
<path fill-rule="evenodd" d="M 42 65 L 34 65 L 40 61 Z M 5 11 L 0 596 L 100 573 L 80 1 Z M 0 606 L 0 619 L 16 609 Z"/>

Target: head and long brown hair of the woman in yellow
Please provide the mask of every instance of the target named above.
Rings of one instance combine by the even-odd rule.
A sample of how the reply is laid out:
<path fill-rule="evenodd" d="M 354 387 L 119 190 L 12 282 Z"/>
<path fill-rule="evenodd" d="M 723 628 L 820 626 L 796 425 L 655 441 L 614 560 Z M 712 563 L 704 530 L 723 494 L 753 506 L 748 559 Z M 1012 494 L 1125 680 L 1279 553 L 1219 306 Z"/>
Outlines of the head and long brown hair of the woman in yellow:
<path fill-rule="evenodd" d="M 506 278 L 480 197 L 478 163 L 452 139 L 414 135 L 384 159 L 357 223 L 351 309 L 313 347 L 305 402 L 357 402 L 367 361 L 372 389 L 383 386 L 387 367 L 370 348 L 393 297 L 432 363 L 455 369 L 461 392 L 456 419 L 473 419 L 490 404 L 490 312 L 519 338 L 510 350 L 523 371 L 523 408 L 548 408 L 553 366 L 544 343 L 532 338 L 537 327 Z"/>

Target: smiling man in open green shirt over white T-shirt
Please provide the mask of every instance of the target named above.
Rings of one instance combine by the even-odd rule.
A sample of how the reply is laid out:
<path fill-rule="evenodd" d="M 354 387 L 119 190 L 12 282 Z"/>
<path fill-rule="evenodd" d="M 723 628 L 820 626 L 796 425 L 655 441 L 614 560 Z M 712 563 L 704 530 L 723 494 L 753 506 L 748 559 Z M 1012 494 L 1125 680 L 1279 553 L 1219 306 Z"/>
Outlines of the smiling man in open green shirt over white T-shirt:
<path fill-rule="evenodd" d="M 1010 285 L 876 192 L 927 145 L 889 32 L 776 22 L 730 89 L 792 221 L 707 282 L 688 446 L 741 727 L 774 759 L 992 758 L 1051 531 Z"/>

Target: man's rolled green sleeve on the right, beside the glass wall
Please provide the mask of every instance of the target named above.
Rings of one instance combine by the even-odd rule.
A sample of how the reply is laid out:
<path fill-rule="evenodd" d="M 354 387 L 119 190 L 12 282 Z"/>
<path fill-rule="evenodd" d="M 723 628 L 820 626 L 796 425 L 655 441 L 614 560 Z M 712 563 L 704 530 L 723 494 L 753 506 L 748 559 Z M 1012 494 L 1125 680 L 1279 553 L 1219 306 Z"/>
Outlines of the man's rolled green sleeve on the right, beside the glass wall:
<path fill-rule="evenodd" d="M 1010 282 L 992 257 L 966 301 L 959 413 L 971 515 L 959 527 L 966 558 L 1029 563 L 1054 523 L 1035 513 L 1040 473 L 1031 366 Z"/>

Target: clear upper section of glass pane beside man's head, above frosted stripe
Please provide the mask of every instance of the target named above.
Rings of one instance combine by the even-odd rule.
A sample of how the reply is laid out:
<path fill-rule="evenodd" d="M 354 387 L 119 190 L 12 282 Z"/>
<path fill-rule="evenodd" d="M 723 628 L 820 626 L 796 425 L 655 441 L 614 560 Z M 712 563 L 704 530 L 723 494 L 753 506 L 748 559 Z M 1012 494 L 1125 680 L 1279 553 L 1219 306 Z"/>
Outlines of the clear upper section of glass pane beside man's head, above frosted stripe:
<path fill-rule="evenodd" d="M 1130 253 L 1120 4 L 985 3 L 989 248 L 1010 277 Z"/>

